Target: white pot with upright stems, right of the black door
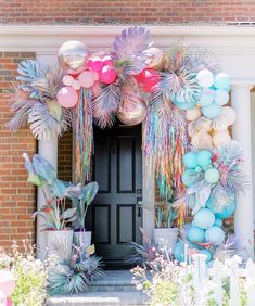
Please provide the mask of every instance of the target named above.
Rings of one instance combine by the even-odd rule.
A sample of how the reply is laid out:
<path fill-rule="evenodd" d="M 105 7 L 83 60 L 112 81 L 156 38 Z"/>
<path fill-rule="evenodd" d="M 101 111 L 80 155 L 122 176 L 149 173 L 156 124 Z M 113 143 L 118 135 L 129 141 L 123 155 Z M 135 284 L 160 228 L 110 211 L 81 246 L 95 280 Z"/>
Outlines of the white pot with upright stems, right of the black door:
<path fill-rule="evenodd" d="M 170 202 L 155 202 L 155 228 L 154 242 L 156 245 L 165 246 L 168 253 L 173 253 L 178 229 L 174 227 L 174 221 L 177 218 L 177 212 L 173 208 Z"/>

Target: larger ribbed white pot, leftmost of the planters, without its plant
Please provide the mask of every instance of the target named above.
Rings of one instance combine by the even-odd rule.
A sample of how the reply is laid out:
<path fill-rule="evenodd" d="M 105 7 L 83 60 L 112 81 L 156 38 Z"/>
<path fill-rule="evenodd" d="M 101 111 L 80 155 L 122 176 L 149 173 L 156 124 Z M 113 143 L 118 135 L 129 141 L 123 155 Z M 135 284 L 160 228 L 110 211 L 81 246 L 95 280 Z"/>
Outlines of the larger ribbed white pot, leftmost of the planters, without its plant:
<path fill-rule="evenodd" d="M 58 260 L 69 259 L 73 244 L 73 230 L 47 231 L 48 254 L 53 255 Z"/>

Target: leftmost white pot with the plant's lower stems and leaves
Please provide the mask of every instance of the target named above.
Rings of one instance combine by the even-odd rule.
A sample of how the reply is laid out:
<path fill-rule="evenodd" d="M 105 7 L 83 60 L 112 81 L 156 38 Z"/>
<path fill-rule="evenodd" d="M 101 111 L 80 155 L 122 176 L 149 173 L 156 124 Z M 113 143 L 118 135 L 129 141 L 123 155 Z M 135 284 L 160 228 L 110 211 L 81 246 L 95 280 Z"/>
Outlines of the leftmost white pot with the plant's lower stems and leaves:
<path fill-rule="evenodd" d="M 58 259 L 69 258 L 72 253 L 74 230 L 68 224 L 76 219 L 76 208 L 65 209 L 65 200 L 53 196 L 47 205 L 33 214 L 33 218 L 41 216 L 47 237 L 47 248 Z"/>

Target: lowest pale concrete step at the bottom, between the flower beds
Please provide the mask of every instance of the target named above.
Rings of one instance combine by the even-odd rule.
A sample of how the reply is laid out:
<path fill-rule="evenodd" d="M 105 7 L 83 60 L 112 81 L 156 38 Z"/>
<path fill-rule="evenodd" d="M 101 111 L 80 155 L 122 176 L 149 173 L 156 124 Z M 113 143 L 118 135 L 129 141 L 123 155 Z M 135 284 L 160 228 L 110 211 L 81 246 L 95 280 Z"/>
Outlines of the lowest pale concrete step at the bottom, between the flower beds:
<path fill-rule="evenodd" d="M 137 292 L 86 292 L 73 296 L 55 296 L 51 297 L 47 306 L 128 306 L 128 305 L 145 305 L 148 297 L 144 293 Z"/>

